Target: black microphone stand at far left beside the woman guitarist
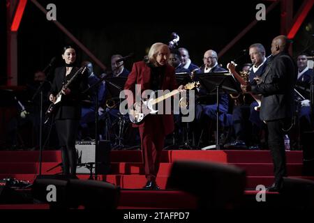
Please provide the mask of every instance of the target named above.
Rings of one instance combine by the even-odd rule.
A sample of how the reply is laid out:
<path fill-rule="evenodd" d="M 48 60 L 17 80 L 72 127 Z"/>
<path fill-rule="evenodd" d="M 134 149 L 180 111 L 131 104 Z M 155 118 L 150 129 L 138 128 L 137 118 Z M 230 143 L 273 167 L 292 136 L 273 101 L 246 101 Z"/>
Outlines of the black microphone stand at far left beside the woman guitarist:
<path fill-rule="evenodd" d="M 50 68 L 52 66 L 52 62 L 50 62 L 45 69 L 43 70 L 43 72 L 45 73 L 48 68 Z M 47 77 L 50 76 L 51 72 L 48 72 Z M 41 166 L 42 166 L 42 162 L 43 162 L 43 85 L 45 84 L 45 82 L 48 82 L 46 79 L 47 77 L 45 77 L 45 80 L 43 82 L 40 83 L 40 86 L 38 86 L 38 89 L 36 90 L 36 92 L 33 94 L 33 97 L 31 98 L 31 101 L 33 102 L 36 98 L 36 96 L 38 95 L 38 93 L 40 94 L 40 103 L 39 103 L 39 116 L 40 116 L 40 121 L 39 121 L 39 174 L 38 176 L 41 176 Z M 50 83 L 50 82 L 49 82 Z M 33 118 L 36 118 L 35 116 Z M 34 121 L 35 123 L 35 121 Z"/>

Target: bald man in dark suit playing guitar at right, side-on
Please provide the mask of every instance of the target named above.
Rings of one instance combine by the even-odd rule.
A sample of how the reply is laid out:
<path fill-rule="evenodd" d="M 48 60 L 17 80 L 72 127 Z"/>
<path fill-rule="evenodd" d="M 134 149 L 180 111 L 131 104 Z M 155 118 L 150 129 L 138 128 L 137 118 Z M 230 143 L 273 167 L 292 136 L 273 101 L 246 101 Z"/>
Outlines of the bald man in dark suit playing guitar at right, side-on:
<path fill-rule="evenodd" d="M 241 86 L 244 92 L 262 94 L 260 118 L 268 129 L 268 146 L 274 162 L 275 182 L 269 191 L 280 191 L 283 176 L 287 175 L 283 137 L 292 125 L 294 112 L 294 85 L 297 81 L 297 66 L 287 53 L 289 40 L 277 36 L 271 43 L 271 57 L 257 85 Z"/>

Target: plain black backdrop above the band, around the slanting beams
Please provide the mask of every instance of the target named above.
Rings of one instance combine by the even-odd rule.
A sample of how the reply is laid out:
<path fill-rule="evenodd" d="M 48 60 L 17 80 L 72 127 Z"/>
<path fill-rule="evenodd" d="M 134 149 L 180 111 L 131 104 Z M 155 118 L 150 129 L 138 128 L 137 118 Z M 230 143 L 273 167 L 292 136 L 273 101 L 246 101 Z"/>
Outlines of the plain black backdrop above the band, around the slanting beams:
<path fill-rule="evenodd" d="M 4 2 L 4 3 L 3 3 Z M 237 36 L 248 24 L 255 20 L 257 3 L 269 6 L 273 1 L 53 1 L 38 0 L 45 8 L 48 3 L 57 6 L 57 20 L 80 40 L 91 52 L 110 69 L 112 54 L 126 56 L 134 53 L 126 61 L 126 68 L 132 68 L 140 61 L 151 44 L 168 43 L 172 32 L 179 37 L 179 47 L 186 47 L 190 59 L 198 66 L 202 65 L 202 56 L 207 49 L 220 52 L 225 45 Z M 303 1 L 294 1 L 294 13 Z M 6 56 L 6 20 L 5 1 L 1 1 L 1 54 Z M 244 38 L 241 38 L 219 60 L 225 67 L 239 58 L 242 49 L 248 49 L 253 43 L 262 43 L 270 54 L 271 40 L 280 35 L 280 4 L 267 14 L 266 21 L 257 22 Z M 313 50 L 313 31 L 305 26 L 312 22 L 313 9 L 308 13 L 293 42 L 293 56 L 307 48 Z M 56 66 L 61 66 L 61 49 L 64 45 L 73 45 L 71 40 L 46 20 L 31 1 L 24 10 L 18 31 L 18 84 L 24 85 L 33 77 L 33 72 L 43 69 L 53 56 L 57 56 Z M 312 45 L 312 46 L 311 46 Z M 75 46 L 75 45 L 74 45 Z M 76 46 L 75 46 L 76 47 Z M 77 48 L 77 47 L 76 47 Z M 77 61 L 91 60 L 77 48 Z M 242 56 L 238 63 L 250 62 L 249 56 Z M 0 84 L 6 83 L 6 60 L 1 61 Z M 95 71 L 103 72 L 98 66 Z"/>

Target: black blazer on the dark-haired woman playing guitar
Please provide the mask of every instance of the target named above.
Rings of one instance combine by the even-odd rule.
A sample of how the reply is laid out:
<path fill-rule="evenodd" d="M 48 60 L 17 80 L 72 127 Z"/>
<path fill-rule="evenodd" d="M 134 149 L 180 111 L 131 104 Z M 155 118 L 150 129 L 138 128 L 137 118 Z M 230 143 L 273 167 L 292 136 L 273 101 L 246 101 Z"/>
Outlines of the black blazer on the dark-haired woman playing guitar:
<path fill-rule="evenodd" d="M 56 68 L 54 70 L 54 80 L 50 93 L 57 95 L 61 91 L 62 86 L 69 80 L 79 68 L 73 67 L 70 74 L 66 76 L 66 67 Z M 78 74 L 73 82 L 68 86 L 70 93 L 62 95 L 61 102 L 57 104 L 54 112 L 54 119 L 80 119 L 82 92 L 87 89 L 87 72 Z M 50 95 L 50 94 L 49 94 Z"/>

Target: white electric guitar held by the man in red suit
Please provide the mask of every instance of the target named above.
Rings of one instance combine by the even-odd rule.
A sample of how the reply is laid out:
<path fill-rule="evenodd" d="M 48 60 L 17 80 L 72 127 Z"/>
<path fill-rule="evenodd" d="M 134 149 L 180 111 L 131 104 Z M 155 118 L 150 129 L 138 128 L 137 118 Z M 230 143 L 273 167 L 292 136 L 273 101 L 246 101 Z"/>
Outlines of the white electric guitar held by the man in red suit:
<path fill-rule="evenodd" d="M 191 89 L 194 89 L 196 86 L 199 86 L 199 85 L 200 85 L 199 82 L 191 82 L 191 83 L 186 84 L 184 86 L 184 89 L 191 90 Z M 158 112 L 158 110 L 155 110 L 153 108 L 153 106 L 155 104 L 162 102 L 163 100 L 166 100 L 167 98 L 170 98 L 179 92 L 180 91 L 178 89 L 175 89 L 175 90 L 171 91 L 170 93 L 166 93 L 165 95 L 162 95 L 156 99 L 151 98 L 149 100 L 142 100 L 141 107 L 143 109 L 141 112 L 137 112 L 134 108 L 134 105 L 133 105 L 133 109 L 130 109 L 130 111 L 129 111 L 129 117 L 130 117 L 131 123 L 139 125 L 140 123 L 142 123 L 142 121 L 144 120 L 144 118 L 148 114 L 156 114 Z"/>

